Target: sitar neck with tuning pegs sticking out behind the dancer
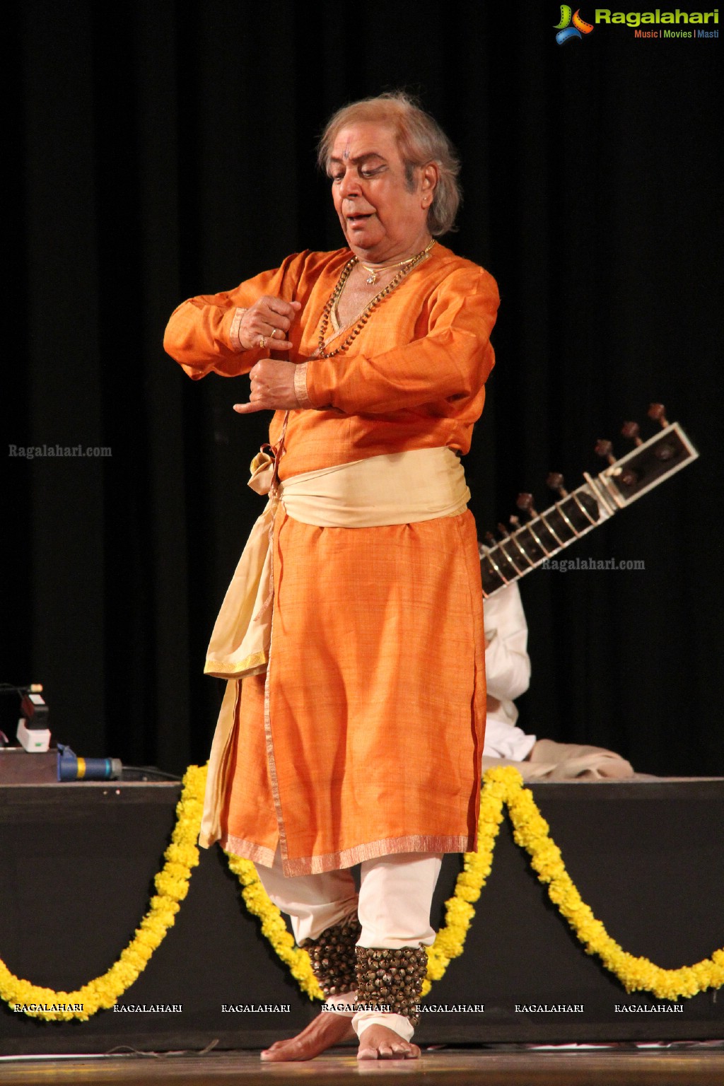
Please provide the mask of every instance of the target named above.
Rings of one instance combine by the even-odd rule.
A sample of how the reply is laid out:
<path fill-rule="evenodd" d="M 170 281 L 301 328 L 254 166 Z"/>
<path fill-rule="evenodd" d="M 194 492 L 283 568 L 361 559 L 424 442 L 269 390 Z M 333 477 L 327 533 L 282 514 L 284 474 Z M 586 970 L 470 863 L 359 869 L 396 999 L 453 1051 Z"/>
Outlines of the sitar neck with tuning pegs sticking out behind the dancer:
<path fill-rule="evenodd" d="M 643 441 L 638 424 L 625 422 L 621 432 L 635 447 L 620 459 L 613 456 L 610 441 L 598 441 L 596 452 L 608 466 L 597 476 L 584 471 L 585 482 L 577 490 L 569 493 L 562 475 L 551 471 L 546 482 L 559 501 L 543 513 L 536 512 L 532 494 L 518 495 L 516 504 L 530 519 L 521 523 L 513 515 L 511 528 L 498 525 L 500 539 L 488 532 L 485 542 L 479 543 L 485 598 L 543 566 L 698 457 L 678 422 L 666 419 L 663 404 L 651 404 L 648 416 L 661 430 Z"/>

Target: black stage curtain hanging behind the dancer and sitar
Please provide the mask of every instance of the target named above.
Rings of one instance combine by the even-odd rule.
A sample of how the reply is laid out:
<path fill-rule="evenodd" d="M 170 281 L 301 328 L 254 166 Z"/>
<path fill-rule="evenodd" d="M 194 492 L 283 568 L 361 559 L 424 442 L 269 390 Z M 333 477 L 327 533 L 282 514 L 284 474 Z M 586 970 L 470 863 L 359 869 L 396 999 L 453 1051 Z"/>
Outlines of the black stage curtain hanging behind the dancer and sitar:
<path fill-rule="evenodd" d="M 261 508 L 245 479 L 267 419 L 233 415 L 245 379 L 188 380 L 164 326 L 183 298 L 336 248 L 316 136 L 404 87 L 463 161 L 450 244 L 500 287 L 466 465 L 481 534 L 521 490 L 549 504 L 549 470 L 600 470 L 596 439 L 626 451 L 621 424 L 652 400 L 701 453 L 568 552 L 645 570 L 522 582 L 521 722 L 652 773 L 722 772 L 721 42 L 597 25 L 559 46 L 559 20 L 480 0 L 8 10 L 0 678 L 45 682 L 56 740 L 205 759 L 221 692 L 204 648 Z M 56 444 L 112 455 L 11 455 Z"/>

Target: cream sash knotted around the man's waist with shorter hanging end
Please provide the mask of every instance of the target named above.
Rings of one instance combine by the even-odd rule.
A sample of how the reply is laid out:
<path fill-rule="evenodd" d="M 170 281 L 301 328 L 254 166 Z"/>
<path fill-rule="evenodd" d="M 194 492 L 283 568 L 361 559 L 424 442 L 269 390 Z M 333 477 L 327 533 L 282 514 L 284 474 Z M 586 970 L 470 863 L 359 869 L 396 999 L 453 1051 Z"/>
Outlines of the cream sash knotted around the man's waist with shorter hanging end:
<path fill-rule="evenodd" d="M 269 489 L 272 464 L 250 487 Z M 271 533 L 279 506 L 293 520 L 319 528 L 379 528 L 462 513 L 470 501 L 460 459 L 452 449 L 414 449 L 370 456 L 279 484 L 252 528 L 221 604 L 204 671 L 241 679 L 264 671 L 271 641 Z"/>

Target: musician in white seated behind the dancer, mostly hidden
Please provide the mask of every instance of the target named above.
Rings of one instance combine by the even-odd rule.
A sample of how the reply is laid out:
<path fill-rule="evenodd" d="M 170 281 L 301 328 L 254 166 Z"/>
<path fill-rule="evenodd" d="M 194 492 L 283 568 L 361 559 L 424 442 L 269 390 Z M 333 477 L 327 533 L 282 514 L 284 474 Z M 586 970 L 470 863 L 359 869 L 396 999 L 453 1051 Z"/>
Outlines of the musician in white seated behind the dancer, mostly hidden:
<path fill-rule="evenodd" d="M 612 750 L 538 740 L 517 727 L 513 702 L 528 690 L 531 678 L 528 624 L 518 585 L 508 584 L 485 599 L 484 611 L 487 717 L 483 772 L 494 766 L 515 766 L 526 781 L 634 776 L 631 763 Z"/>

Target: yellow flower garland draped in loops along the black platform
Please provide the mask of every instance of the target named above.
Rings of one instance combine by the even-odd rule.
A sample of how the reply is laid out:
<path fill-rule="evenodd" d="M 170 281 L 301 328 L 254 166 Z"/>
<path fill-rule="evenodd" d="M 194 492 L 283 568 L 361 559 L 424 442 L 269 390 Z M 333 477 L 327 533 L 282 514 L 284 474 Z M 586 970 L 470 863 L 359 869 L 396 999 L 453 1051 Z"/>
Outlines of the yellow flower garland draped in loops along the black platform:
<path fill-rule="evenodd" d="M 196 839 L 201 826 L 205 781 L 205 767 L 188 768 L 176 808 L 178 817 L 172 843 L 164 854 L 164 867 L 155 876 L 157 894 L 151 898 L 149 911 L 137 929 L 135 938 L 111 969 L 77 992 L 54 992 L 20 980 L 0 960 L 0 998 L 11 1005 L 22 1006 L 28 1015 L 46 1021 L 85 1021 L 97 1011 L 113 1007 L 145 969 L 151 955 L 174 924 L 179 902 L 188 893 L 191 869 L 199 863 Z M 474 917 L 473 902 L 480 897 L 491 872 L 493 848 L 503 821 L 504 805 L 508 808 L 516 843 L 531 856 L 531 866 L 538 880 L 548 885 L 550 900 L 571 925 L 586 954 L 598 955 L 606 969 L 619 978 L 627 992 L 650 992 L 659 999 L 673 1000 L 689 998 L 698 992 L 724 985 L 724 948 L 715 950 L 711 958 L 681 969 L 661 969 L 647 958 L 636 958 L 622 950 L 581 899 L 566 871 L 560 850 L 548 835 L 548 824 L 537 809 L 530 788 L 523 787 L 520 773 L 511 767 L 501 767 L 485 773 L 480 803 L 478 851 L 466 853 L 455 894 L 445 904 L 445 924 L 428 950 L 428 978 L 422 989 L 423 995 L 430 990 L 432 981 L 443 976 L 450 960 L 462 954 Z M 238 856 L 227 855 L 229 868 L 241 883 L 246 908 L 262 921 L 262 934 L 289 965 L 302 990 L 310 998 L 322 998 L 308 955 L 294 946 L 281 912 L 269 900 L 254 864 Z M 68 1005 L 79 1005 L 82 1009 L 45 1010 L 46 1006 L 61 1003 L 66 1008 Z M 29 1005 L 43 1009 L 29 1010 Z"/>

